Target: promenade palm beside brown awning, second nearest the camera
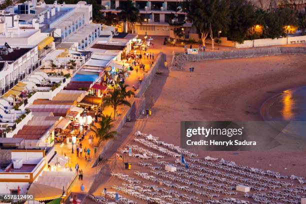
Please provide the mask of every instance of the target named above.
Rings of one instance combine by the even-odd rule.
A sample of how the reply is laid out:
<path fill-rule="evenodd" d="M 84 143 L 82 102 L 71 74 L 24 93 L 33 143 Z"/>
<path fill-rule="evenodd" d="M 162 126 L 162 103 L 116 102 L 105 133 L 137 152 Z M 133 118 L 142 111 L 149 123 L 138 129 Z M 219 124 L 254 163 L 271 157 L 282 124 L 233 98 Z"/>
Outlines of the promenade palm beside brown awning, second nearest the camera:
<path fill-rule="evenodd" d="M 103 106 L 112 106 L 114 112 L 113 119 L 115 119 L 118 105 L 130 106 L 130 103 L 125 100 L 125 96 L 121 94 L 121 91 L 118 88 L 113 89 L 109 94 L 109 96 L 103 97 Z"/>

